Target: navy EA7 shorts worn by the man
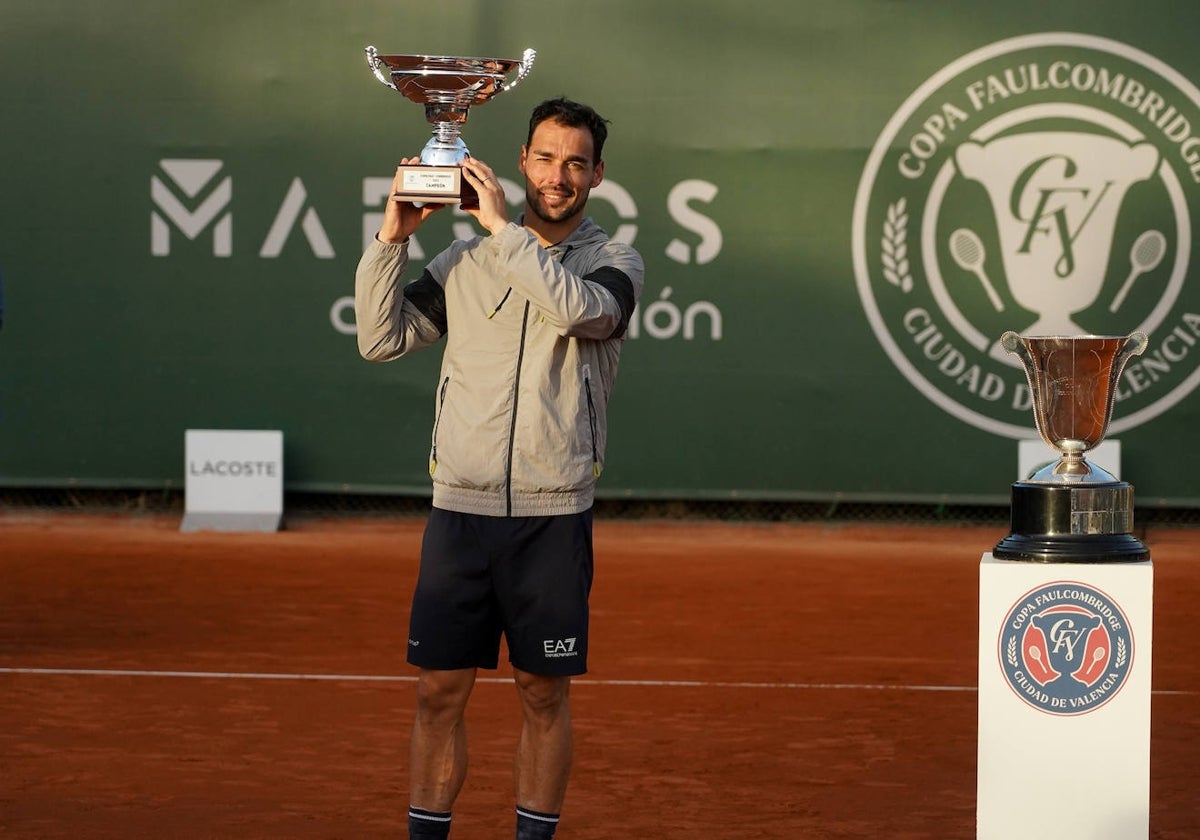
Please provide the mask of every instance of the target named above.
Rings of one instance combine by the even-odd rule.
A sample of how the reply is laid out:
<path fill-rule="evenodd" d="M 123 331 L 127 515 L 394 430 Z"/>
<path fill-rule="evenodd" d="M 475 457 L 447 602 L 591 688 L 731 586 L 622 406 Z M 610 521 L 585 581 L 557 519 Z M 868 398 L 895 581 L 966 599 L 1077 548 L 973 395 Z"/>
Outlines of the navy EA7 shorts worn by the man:
<path fill-rule="evenodd" d="M 547 677 L 587 671 L 592 511 L 479 516 L 432 509 L 413 593 L 408 661 L 437 671 L 509 661 Z"/>

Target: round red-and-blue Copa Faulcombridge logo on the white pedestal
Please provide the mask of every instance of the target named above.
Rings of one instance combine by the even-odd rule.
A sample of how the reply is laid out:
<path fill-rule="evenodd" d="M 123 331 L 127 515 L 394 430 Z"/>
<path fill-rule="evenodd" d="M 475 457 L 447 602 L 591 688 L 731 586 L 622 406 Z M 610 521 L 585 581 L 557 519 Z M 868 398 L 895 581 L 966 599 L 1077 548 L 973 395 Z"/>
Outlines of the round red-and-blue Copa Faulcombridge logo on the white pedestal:
<path fill-rule="evenodd" d="M 1099 589 L 1060 581 L 1020 598 L 1000 632 L 1000 667 L 1033 708 L 1080 715 L 1121 690 L 1133 664 L 1133 632 Z"/>

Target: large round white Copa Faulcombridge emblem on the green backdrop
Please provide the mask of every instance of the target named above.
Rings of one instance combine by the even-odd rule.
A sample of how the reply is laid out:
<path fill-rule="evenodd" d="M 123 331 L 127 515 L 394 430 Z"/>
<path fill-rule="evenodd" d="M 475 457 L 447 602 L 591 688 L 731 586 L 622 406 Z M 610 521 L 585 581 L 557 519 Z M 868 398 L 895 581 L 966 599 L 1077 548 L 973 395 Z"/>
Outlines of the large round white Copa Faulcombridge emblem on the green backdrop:
<path fill-rule="evenodd" d="M 1070 32 L 1000 41 L 935 73 L 868 158 L 853 258 L 875 335 L 964 422 L 1030 437 L 1022 335 L 1151 336 L 1110 433 L 1200 384 L 1200 90 L 1133 47 Z"/>

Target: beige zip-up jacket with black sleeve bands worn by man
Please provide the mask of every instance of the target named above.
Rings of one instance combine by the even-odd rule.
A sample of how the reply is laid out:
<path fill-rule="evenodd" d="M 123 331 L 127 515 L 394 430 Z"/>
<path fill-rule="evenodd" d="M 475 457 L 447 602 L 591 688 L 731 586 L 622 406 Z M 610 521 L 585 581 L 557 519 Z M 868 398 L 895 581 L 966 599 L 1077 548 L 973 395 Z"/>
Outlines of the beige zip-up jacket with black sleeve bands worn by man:
<path fill-rule="evenodd" d="M 592 220 L 550 248 L 521 220 L 456 241 L 408 283 L 408 244 L 367 247 L 359 352 L 388 361 L 446 337 L 436 392 L 433 505 L 485 516 L 575 514 L 604 468 L 607 404 L 644 268 Z"/>

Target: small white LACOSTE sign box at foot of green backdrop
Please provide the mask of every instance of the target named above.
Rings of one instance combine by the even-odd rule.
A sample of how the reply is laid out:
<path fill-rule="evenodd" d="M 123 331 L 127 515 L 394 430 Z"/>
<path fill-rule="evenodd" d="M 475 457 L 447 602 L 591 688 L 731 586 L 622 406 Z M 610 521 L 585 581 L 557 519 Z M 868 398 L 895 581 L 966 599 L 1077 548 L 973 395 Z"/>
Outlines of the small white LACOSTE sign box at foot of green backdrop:
<path fill-rule="evenodd" d="M 283 432 L 190 428 L 185 450 L 180 530 L 278 530 Z"/>

